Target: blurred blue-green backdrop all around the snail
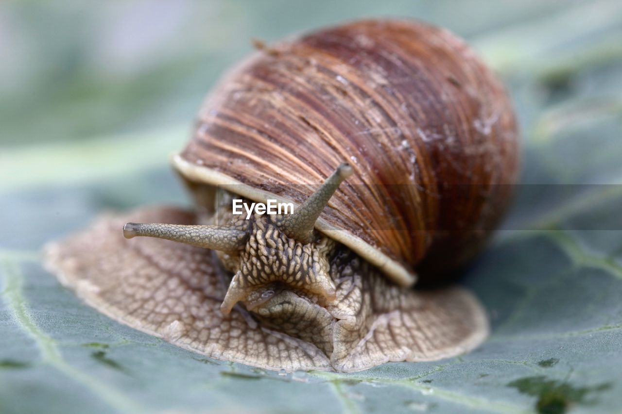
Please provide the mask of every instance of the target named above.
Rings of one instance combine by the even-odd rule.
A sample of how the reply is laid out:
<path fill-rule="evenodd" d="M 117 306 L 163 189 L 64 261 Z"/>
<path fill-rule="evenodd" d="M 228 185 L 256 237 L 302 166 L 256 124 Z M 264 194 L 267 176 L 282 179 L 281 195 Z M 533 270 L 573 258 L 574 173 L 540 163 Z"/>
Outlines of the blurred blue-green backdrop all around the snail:
<path fill-rule="evenodd" d="M 404 384 L 415 391 L 407 395 L 404 384 L 356 385 L 371 377 L 304 389 L 294 381 L 275 391 L 279 378 L 264 385 L 219 377 L 244 368 L 197 363 L 194 354 L 108 320 L 41 269 L 45 242 L 105 209 L 188 205 L 168 157 L 185 144 L 219 76 L 251 52 L 251 39 L 269 43 L 369 16 L 416 17 L 452 30 L 498 73 L 516 106 L 521 182 L 531 190 L 521 191 L 505 226 L 536 231 L 500 232 L 465 275 L 493 323 L 479 351 L 444 365 L 373 370 L 389 385 L 411 379 Z M 280 409 L 293 410 L 306 400 L 292 401 L 291 393 L 313 390 L 325 395 L 327 412 L 379 409 L 387 396 L 407 411 L 490 403 L 496 412 L 522 412 L 544 397 L 509 384 L 530 375 L 547 375 L 543 384 L 556 393 L 576 390 L 568 406 L 619 408 L 621 135 L 620 0 L 2 1 L 0 411 L 270 411 L 261 398 L 268 392 L 281 392 Z M 573 186 L 582 188 L 564 196 Z M 561 193 L 551 196 L 552 188 Z M 550 229 L 563 231 L 539 232 Z M 438 372 L 427 377 L 434 383 L 417 382 L 430 372 Z M 235 392 L 240 384 L 248 393 Z M 581 405 L 577 395 L 588 393 L 606 397 Z"/>

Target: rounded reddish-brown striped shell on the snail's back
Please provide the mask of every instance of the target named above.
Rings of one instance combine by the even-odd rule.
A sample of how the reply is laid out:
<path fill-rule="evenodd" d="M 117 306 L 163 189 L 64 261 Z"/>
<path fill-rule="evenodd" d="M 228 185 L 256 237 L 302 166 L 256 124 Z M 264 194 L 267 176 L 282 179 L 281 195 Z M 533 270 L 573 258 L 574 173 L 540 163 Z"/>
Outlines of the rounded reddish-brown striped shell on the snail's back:
<path fill-rule="evenodd" d="M 350 162 L 317 228 L 408 285 L 478 249 L 508 205 L 518 154 L 509 99 L 473 50 L 384 19 L 261 48 L 208 96 L 174 163 L 191 182 L 300 203 Z"/>

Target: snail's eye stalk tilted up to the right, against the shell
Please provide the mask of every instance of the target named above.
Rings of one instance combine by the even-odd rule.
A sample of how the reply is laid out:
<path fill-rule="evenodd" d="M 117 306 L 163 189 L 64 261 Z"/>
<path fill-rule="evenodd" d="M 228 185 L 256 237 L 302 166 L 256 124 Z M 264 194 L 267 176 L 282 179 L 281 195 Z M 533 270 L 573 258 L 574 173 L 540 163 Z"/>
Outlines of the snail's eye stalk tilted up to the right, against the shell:
<path fill-rule="evenodd" d="M 277 226 L 292 239 L 309 243 L 313 240 L 315 221 L 322 214 L 337 187 L 353 173 L 348 163 L 342 163 L 330 177 L 293 214 L 285 215 L 277 221 Z"/>

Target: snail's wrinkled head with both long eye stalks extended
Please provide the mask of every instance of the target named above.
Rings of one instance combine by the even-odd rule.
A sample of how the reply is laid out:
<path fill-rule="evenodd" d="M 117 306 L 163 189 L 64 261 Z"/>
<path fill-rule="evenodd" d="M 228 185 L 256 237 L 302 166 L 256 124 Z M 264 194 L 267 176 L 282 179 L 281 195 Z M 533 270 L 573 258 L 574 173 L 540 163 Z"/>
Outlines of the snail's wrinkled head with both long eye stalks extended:
<path fill-rule="evenodd" d="M 328 263 L 335 242 L 315 231 L 315 221 L 352 172 L 342 163 L 292 214 L 256 213 L 250 223 L 232 219 L 225 226 L 127 223 L 123 234 L 128 239 L 157 237 L 217 251 L 233 274 L 221 305 L 225 314 L 239 301 L 254 310 L 285 293 L 325 306 L 336 297 Z"/>

